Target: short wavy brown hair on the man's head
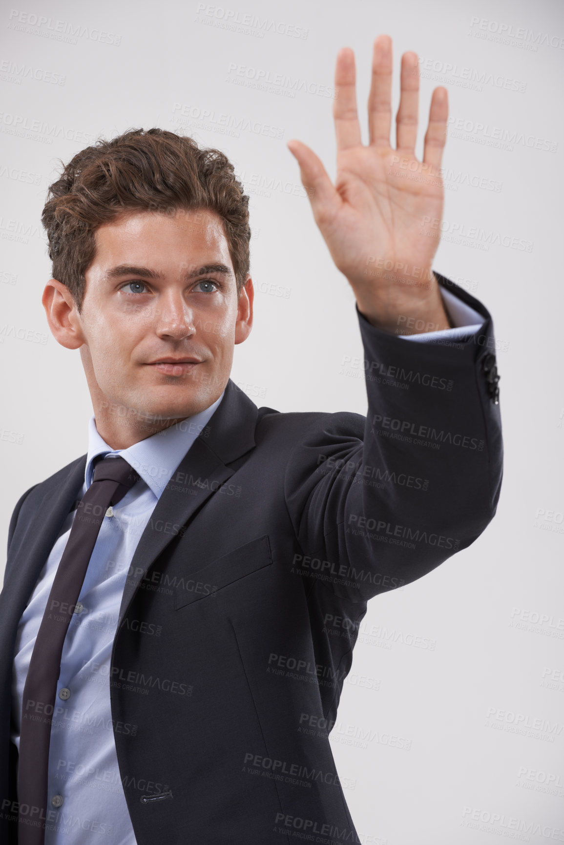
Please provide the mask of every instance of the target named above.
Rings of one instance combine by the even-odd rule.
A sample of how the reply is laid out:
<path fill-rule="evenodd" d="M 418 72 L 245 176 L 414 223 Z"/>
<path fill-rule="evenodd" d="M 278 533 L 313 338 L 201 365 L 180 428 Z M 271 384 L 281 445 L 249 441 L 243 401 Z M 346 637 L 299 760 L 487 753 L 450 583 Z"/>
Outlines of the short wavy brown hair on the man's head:
<path fill-rule="evenodd" d="M 60 161 L 60 160 L 59 160 Z M 79 313 L 98 226 L 124 212 L 215 211 L 223 220 L 240 295 L 249 275 L 249 197 L 220 150 L 166 129 L 129 129 L 80 150 L 49 186 L 41 223 L 52 278 L 68 287 Z"/>

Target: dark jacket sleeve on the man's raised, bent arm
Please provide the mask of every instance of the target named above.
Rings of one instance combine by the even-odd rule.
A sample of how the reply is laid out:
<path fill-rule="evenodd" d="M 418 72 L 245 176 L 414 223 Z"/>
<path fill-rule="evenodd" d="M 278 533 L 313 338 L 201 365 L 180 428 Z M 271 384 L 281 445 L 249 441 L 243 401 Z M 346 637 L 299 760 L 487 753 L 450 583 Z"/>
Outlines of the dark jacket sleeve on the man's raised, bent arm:
<path fill-rule="evenodd" d="M 368 414 L 321 415 L 287 462 L 284 493 L 301 549 L 293 572 L 353 602 L 435 569 L 496 513 L 503 447 L 492 320 L 435 275 L 483 315 L 479 331 L 408 343 L 356 308 Z"/>

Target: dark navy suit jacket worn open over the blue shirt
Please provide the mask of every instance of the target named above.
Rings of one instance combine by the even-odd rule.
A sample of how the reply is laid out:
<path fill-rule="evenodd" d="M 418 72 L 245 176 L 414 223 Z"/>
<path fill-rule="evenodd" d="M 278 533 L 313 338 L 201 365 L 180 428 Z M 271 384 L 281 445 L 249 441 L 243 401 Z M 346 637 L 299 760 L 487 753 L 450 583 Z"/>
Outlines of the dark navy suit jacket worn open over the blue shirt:
<path fill-rule="evenodd" d="M 357 310 L 367 417 L 257 408 L 229 379 L 156 504 L 111 658 L 115 743 L 140 845 L 274 845 L 296 833 L 359 841 L 327 728 L 366 602 L 468 547 L 501 485 L 490 314 L 439 280 L 485 316 L 477 338 L 404 341 Z M 14 638 L 85 459 L 24 493 L 9 526 L 2 842 L 17 816 Z"/>

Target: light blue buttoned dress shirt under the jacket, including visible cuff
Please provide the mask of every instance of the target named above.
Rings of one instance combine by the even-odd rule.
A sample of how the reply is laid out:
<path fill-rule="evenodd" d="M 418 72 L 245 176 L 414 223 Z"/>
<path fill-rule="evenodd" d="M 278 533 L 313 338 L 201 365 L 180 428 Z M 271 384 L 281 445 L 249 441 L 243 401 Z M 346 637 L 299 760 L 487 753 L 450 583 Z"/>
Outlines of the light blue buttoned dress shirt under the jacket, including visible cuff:
<path fill-rule="evenodd" d="M 408 341 L 452 341 L 468 336 L 484 323 L 479 313 L 450 292 L 441 290 L 441 294 L 457 328 L 397 336 Z M 139 472 L 140 480 L 115 507 L 108 509 L 102 521 L 64 641 L 49 749 L 46 845 L 68 845 L 68 842 L 136 845 L 114 741 L 114 731 L 134 734 L 135 726 L 112 724 L 109 684 L 112 644 L 129 564 L 141 534 L 172 473 L 222 398 L 223 393 L 205 411 L 124 450 L 112 450 L 97 432 L 95 417 L 90 417 L 85 482 L 77 498 L 81 499 L 92 483 L 92 462 L 96 455 L 122 455 Z M 31 652 L 75 514 L 73 510 L 64 521 L 19 620 L 12 685 L 12 740 L 18 750 Z M 151 635 L 158 636 L 158 626 Z M 144 781 L 142 772 L 128 772 L 125 777 L 140 779 L 140 794 L 161 791 L 162 784 Z"/>

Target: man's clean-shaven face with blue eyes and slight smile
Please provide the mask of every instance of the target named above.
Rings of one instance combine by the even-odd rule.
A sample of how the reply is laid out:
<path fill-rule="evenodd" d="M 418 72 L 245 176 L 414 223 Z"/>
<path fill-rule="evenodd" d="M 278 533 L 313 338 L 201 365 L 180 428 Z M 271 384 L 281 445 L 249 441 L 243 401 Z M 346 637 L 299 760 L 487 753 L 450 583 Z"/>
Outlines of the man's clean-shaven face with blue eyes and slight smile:
<path fill-rule="evenodd" d="M 158 423 L 216 401 L 234 344 L 249 335 L 253 300 L 250 280 L 237 298 L 218 215 L 142 211 L 101 226 L 85 278 L 74 323 L 96 424 L 116 405 Z"/>

